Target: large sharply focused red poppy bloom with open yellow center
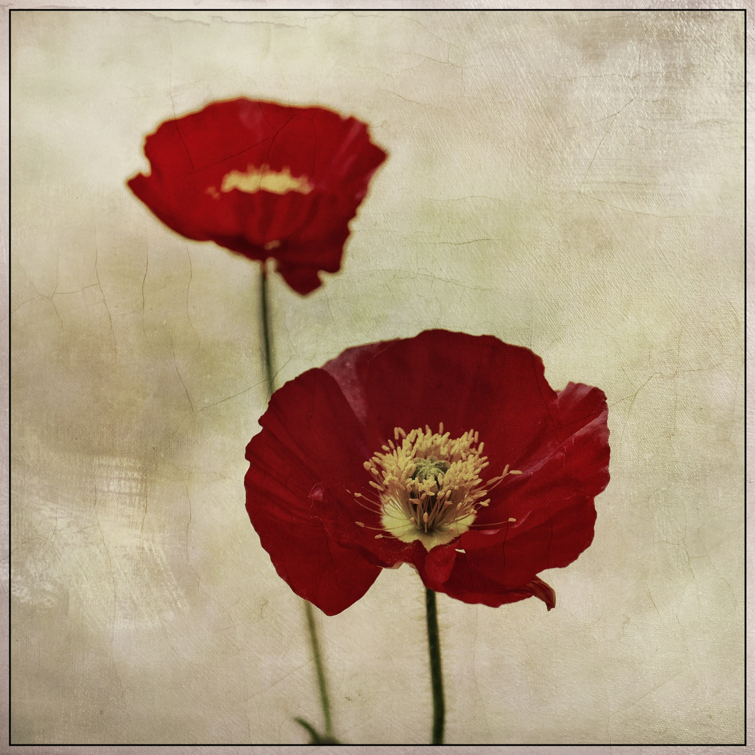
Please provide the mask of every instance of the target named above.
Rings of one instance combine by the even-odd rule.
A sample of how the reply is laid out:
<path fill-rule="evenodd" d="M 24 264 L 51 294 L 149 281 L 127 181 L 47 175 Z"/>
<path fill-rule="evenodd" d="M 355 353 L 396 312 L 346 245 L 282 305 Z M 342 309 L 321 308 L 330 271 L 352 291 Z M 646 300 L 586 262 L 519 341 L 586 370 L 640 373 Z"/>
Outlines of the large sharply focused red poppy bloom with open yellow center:
<path fill-rule="evenodd" d="M 347 349 L 273 394 L 247 447 L 246 507 L 295 593 L 343 611 L 381 569 L 501 606 L 593 540 L 609 482 L 606 396 L 556 392 L 531 351 L 425 331 Z"/>

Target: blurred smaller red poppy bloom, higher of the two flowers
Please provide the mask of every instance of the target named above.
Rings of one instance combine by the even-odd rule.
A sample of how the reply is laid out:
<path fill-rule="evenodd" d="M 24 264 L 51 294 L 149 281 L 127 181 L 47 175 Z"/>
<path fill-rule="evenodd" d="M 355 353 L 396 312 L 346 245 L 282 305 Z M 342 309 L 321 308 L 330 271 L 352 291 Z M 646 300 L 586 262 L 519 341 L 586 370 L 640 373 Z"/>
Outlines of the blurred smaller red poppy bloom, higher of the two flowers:
<path fill-rule="evenodd" d="M 341 267 L 349 221 L 386 153 L 322 107 L 215 102 L 146 137 L 151 173 L 128 186 L 168 227 L 252 260 L 276 260 L 308 294 Z"/>

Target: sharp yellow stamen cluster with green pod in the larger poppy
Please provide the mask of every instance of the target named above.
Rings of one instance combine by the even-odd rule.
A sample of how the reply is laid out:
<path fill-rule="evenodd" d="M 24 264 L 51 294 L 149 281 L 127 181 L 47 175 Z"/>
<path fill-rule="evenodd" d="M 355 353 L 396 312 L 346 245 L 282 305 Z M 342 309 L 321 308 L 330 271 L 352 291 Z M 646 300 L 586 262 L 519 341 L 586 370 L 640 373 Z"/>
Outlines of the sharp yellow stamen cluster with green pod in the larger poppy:
<path fill-rule="evenodd" d="M 488 492 L 507 474 L 520 474 L 508 465 L 503 474 L 482 480 L 488 457 L 474 430 L 459 438 L 433 433 L 430 427 L 406 433 L 394 431 L 382 451 L 365 461 L 370 485 L 377 491 L 383 528 L 405 543 L 421 541 L 427 550 L 445 545 L 467 532 Z M 358 522 L 359 523 L 359 522 Z M 377 535 L 381 537 L 381 535 Z"/>

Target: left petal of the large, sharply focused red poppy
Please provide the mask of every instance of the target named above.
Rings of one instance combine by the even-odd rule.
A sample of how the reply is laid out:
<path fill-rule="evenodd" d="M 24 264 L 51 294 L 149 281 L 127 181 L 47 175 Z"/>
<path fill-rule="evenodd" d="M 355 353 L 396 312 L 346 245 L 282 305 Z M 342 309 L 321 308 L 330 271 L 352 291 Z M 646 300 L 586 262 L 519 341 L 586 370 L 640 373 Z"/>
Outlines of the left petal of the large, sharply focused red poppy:
<path fill-rule="evenodd" d="M 363 473 L 364 451 L 353 413 L 335 381 L 310 370 L 273 394 L 263 432 L 247 447 L 247 511 L 279 575 L 298 595 L 331 615 L 368 590 L 380 569 L 325 532 L 322 480 L 347 484 Z"/>

